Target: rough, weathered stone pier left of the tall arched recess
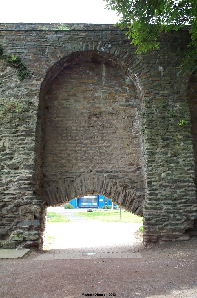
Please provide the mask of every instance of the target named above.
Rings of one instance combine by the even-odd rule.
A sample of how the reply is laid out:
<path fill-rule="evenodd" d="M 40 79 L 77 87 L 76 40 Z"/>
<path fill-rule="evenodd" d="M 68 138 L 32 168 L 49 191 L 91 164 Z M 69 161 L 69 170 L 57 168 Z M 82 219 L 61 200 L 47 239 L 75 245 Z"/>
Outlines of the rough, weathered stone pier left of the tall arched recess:
<path fill-rule="evenodd" d="M 0 246 L 39 245 L 45 203 L 34 192 L 36 97 L 19 82 L 16 69 L 2 60 L 0 69 L 1 106 L 10 103 L 1 114 Z M 21 113 L 12 110 L 15 101 L 24 106 Z"/>

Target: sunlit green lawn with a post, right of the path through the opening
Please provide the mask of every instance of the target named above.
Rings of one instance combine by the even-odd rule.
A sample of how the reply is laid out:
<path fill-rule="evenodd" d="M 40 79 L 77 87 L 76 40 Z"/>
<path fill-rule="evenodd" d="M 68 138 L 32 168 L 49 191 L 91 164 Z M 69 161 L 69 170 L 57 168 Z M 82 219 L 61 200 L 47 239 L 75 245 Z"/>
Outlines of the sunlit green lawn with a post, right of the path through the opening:
<path fill-rule="evenodd" d="M 88 219 L 99 221 L 120 221 L 120 209 L 119 210 L 106 210 L 106 211 L 93 211 L 93 212 L 76 212 L 75 215 L 84 216 Z M 134 215 L 130 212 L 122 210 L 122 222 L 124 223 L 141 223 L 142 217 Z"/>

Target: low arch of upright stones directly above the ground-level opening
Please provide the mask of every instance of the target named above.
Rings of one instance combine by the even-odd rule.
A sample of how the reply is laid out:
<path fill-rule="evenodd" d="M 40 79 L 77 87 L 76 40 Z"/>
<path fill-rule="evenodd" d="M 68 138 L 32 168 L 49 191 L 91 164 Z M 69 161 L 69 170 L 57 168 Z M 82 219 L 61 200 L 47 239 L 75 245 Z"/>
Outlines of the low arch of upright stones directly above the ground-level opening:
<path fill-rule="evenodd" d="M 143 199 L 140 191 L 126 190 L 118 186 L 117 179 L 107 175 L 85 173 L 77 179 L 64 179 L 45 190 L 44 198 L 49 206 L 59 205 L 84 195 L 102 194 L 120 207 L 142 216 Z"/>

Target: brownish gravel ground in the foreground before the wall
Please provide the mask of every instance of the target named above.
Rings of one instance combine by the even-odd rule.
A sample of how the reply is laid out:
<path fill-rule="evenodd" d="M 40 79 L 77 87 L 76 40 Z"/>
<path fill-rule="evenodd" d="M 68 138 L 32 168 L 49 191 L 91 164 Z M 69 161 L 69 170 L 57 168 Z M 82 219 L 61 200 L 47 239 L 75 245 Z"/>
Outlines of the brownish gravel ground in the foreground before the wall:
<path fill-rule="evenodd" d="M 197 237 L 144 250 L 140 239 L 136 245 L 140 259 L 34 260 L 39 252 L 33 250 L 23 259 L 0 260 L 0 297 L 197 297 Z"/>

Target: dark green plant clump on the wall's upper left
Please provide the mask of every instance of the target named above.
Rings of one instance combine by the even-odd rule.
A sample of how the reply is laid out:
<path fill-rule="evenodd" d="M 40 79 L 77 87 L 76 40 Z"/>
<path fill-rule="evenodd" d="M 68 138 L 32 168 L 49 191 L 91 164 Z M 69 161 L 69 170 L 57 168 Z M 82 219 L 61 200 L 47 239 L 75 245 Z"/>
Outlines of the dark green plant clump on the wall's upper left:
<path fill-rule="evenodd" d="M 27 66 L 21 61 L 20 57 L 15 57 L 13 54 L 11 55 L 5 55 L 3 52 L 2 46 L 0 46 L 0 59 L 5 59 L 5 62 L 9 66 L 13 66 L 18 69 L 18 78 L 20 81 L 24 80 L 27 75 Z"/>

